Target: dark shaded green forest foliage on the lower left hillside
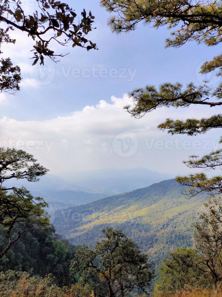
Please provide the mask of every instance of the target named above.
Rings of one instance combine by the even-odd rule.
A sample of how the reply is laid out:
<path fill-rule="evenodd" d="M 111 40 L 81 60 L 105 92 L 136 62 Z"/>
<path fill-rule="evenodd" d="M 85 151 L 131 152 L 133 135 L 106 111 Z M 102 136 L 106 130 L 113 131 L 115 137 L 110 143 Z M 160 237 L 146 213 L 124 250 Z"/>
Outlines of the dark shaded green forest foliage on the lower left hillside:
<path fill-rule="evenodd" d="M 15 242 L 6 255 L 0 259 L 0 270 L 27 271 L 30 275 L 45 277 L 52 274 L 59 286 L 70 285 L 76 279 L 69 273 L 71 260 L 75 258 L 77 247 L 55 234 L 53 227 L 32 226 Z M 34 229 L 34 230 L 33 230 Z M 23 230 L 15 225 L 14 235 Z M 12 237 L 14 236 L 12 234 Z M 6 244 L 4 230 L 0 229 L 0 248 Z"/>

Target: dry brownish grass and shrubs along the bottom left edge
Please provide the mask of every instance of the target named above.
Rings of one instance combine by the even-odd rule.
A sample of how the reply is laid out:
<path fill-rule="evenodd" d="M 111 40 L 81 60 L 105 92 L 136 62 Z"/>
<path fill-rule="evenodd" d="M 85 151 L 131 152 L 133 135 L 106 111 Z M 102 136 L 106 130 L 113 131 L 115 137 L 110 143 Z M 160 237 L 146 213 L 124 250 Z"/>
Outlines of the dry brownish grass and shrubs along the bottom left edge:
<path fill-rule="evenodd" d="M 93 297 L 94 294 L 89 285 L 82 286 L 80 283 L 70 288 L 60 288 L 54 284 L 51 275 L 45 278 L 30 276 L 27 272 L 15 272 L 9 270 L 0 272 L 0 296 L 1 297 Z"/>

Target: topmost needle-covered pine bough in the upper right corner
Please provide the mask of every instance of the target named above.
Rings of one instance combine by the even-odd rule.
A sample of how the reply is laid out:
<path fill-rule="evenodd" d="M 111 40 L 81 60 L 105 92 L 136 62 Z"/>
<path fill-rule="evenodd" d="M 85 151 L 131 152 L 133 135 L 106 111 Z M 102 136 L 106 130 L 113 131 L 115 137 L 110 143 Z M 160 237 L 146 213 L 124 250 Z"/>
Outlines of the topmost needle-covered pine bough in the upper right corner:
<path fill-rule="evenodd" d="M 220 2 L 102 0 L 101 5 L 116 13 L 109 20 L 115 32 L 134 30 L 144 22 L 157 28 L 181 25 L 172 33 L 172 39 L 166 40 L 167 46 L 179 47 L 188 40 L 216 45 L 221 40 L 216 35 L 222 25 Z"/>

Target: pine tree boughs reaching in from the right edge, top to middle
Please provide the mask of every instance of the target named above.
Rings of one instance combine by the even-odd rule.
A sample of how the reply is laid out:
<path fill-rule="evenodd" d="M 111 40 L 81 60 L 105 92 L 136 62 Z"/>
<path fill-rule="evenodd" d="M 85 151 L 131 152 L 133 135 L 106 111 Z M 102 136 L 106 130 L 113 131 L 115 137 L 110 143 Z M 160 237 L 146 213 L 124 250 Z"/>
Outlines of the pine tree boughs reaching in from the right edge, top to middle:
<path fill-rule="evenodd" d="M 222 5 L 220 1 L 172 1 L 172 0 L 101 0 L 101 5 L 115 15 L 109 19 L 109 25 L 114 32 L 134 30 L 139 22 L 154 28 L 167 25 L 171 38 L 166 39 L 166 47 L 180 47 L 189 40 L 204 43 L 207 46 L 220 44 L 222 29 Z M 217 70 L 217 76 L 222 75 L 222 54 L 206 61 L 201 66 L 201 73 Z M 153 85 L 139 88 L 129 95 L 134 99 L 134 106 L 126 106 L 134 117 L 140 118 L 146 113 L 160 107 L 184 108 L 191 105 L 207 105 L 215 107 L 222 105 L 222 82 L 216 87 L 204 81 L 202 85 L 190 82 L 183 88 L 180 83 L 163 83 L 159 89 Z M 210 100 L 210 97 L 212 99 Z M 167 118 L 159 124 L 160 130 L 168 130 L 170 134 L 203 134 L 212 128 L 222 127 L 222 114 L 209 118 L 186 120 Z M 221 142 L 221 140 L 220 140 Z M 203 157 L 190 156 L 184 162 L 190 168 L 212 170 L 221 168 L 222 150 L 219 149 Z M 176 180 L 190 188 L 185 191 L 188 197 L 199 192 L 222 192 L 222 176 L 207 178 L 204 173 L 178 176 Z"/>

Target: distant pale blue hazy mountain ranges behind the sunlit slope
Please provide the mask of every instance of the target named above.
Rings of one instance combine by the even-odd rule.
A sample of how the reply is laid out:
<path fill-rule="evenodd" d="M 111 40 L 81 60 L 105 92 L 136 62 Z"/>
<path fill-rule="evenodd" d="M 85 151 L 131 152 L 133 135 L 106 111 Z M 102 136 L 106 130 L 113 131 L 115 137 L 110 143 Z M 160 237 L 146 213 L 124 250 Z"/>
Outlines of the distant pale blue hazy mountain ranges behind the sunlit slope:
<path fill-rule="evenodd" d="M 129 192 L 166 178 L 169 176 L 147 169 L 109 169 L 76 173 L 72 177 L 47 174 L 36 183 L 19 180 L 17 186 L 25 186 L 34 196 L 43 197 L 53 215 L 57 209 Z"/>

